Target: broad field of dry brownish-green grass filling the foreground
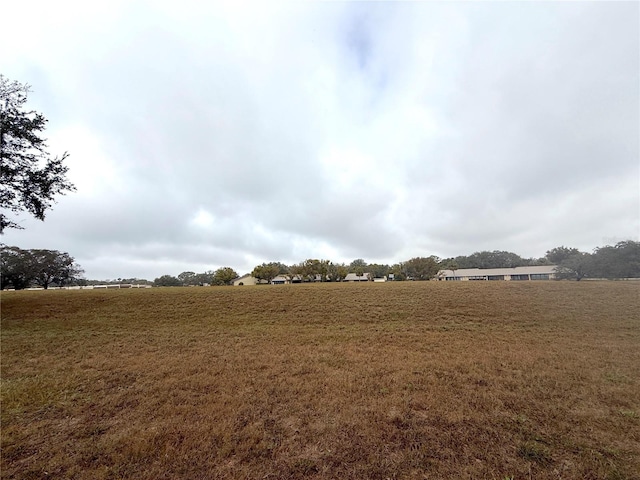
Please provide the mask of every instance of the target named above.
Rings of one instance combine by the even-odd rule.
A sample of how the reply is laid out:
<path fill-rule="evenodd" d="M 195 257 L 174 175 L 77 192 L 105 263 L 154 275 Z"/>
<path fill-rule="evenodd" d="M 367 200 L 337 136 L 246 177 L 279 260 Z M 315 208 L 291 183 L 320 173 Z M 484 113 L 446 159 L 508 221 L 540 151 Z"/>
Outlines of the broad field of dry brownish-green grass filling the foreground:
<path fill-rule="evenodd" d="M 640 283 L 3 292 L 2 478 L 640 479 Z"/>

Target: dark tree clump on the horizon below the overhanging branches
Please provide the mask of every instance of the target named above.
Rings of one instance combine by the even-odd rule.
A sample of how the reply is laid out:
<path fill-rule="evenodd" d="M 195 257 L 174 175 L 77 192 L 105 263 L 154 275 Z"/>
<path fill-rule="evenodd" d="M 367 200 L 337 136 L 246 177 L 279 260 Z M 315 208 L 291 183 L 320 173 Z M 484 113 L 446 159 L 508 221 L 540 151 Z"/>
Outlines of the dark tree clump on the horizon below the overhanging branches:
<path fill-rule="evenodd" d="M 57 250 L 22 250 L 3 246 L 0 252 L 0 287 L 21 290 L 31 285 L 44 289 L 65 286 L 83 273 L 75 259 Z"/>

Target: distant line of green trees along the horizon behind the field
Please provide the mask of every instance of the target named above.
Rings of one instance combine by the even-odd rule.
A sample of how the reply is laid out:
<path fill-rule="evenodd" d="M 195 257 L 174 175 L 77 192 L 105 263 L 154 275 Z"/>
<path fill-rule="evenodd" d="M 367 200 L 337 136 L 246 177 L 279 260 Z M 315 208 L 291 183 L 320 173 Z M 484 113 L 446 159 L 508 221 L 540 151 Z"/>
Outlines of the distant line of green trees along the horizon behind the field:
<path fill-rule="evenodd" d="M 0 254 L 2 289 L 104 283 L 154 286 L 231 285 L 239 276 L 233 268 L 222 267 L 204 273 L 186 271 L 178 276 L 162 275 L 153 282 L 139 278 L 86 280 L 81 276 L 82 268 L 66 252 L 22 250 L 18 247 L 2 246 Z M 640 242 L 622 241 L 616 245 L 598 247 L 592 253 L 562 246 L 547 251 L 545 256 L 540 258 L 523 258 L 512 252 L 494 250 L 444 259 L 434 255 L 414 257 L 393 265 L 367 263 L 361 258 L 349 264 L 319 259 L 307 259 L 293 265 L 268 262 L 256 265 L 251 275 L 267 283 L 279 275 L 291 282 L 340 282 L 350 273 L 362 280 L 387 277 L 402 281 L 429 280 L 441 270 L 513 268 L 530 265 L 556 265 L 556 278 L 559 279 L 579 281 L 583 278 L 640 278 Z"/>

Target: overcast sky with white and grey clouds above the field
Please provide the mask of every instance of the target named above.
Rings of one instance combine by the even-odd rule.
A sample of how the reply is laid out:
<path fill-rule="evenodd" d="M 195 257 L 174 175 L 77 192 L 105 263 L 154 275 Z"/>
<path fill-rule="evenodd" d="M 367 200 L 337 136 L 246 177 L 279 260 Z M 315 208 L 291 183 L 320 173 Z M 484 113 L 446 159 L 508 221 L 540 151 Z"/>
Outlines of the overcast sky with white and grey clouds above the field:
<path fill-rule="evenodd" d="M 10 2 L 77 190 L 0 241 L 153 280 L 640 240 L 639 8 Z"/>

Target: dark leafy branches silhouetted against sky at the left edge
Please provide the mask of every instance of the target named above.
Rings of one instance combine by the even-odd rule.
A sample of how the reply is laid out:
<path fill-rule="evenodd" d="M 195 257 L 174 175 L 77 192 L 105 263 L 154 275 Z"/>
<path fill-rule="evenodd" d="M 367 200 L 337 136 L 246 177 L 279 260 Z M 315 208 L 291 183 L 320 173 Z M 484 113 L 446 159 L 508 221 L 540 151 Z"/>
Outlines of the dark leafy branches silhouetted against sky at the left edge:
<path fill-rule="evenodd" d="M 0 208 L 26 211 L 44 220 L 54 197 L 75 190 L 66 178 L 68 157 L 50 157 L 41 137 L 47 119 L 25 111 L 29 86 L 0 75 Z M 0 234 L 5 228 L 22 228 L 0 213 Z"/>

